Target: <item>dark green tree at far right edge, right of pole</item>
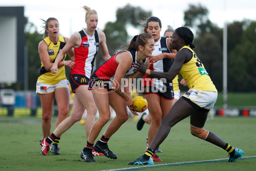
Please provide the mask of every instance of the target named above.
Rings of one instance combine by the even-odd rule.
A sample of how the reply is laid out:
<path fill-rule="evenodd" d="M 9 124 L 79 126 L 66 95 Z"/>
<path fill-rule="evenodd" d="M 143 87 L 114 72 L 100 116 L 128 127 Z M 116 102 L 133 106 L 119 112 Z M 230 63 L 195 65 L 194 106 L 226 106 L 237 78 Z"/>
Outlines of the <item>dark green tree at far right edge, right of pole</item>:
<path fill-rule="evenodd" d="M 252 21 L 241 35 L 230 58 L 233 87 L 239 91 L 256 91 L 256 22 Z"/>

